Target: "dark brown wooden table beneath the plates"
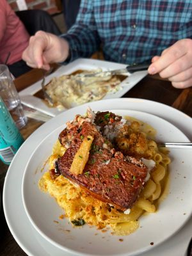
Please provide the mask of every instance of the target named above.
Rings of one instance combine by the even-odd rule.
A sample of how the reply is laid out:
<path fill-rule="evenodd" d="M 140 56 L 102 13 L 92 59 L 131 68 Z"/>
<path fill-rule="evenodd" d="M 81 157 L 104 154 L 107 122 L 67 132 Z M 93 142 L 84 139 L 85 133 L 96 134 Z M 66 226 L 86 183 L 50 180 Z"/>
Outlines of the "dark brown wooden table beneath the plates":
<path fill-rule="evenodd" d="M 27 74 L 18 77 L 15 80 L 15 85 L 17 90 L 20 91 L 27 86 L 35 83 L 39 79 L 42 79 L 42 70 L 31 70 Z M 184 90 L 173 88 L 169 81 L 164 81 L 158 76 L 147 76 L 136 84 L 129 92 L 127 92 L 124 97 L 140 98 L 154 100 L 157 102 L 164 103 L 173 108 L 179 109 L 180 111 L 186 113 L 192 117 L 192 87 Z M 35 129 L 37 129 L 42 122 L 29 119 L 28 124 L 21 130 L 24 138 L 27 138 Z M 8 166 L 0 161 L 0 185 L 1 185 L 1 199 L 3 192 L 3 182 L 4 176 Z M 1 200 L 2 202 L 2 200 Z M 6 221 L 4 219 L 4 214 L 2 210 L 1 203 L 1 241 L 0 241 L 0 255 L 1 256 L 22 256 L 26 255 L 15 242 Z M 43 256 L 43 255 L 42 255 Z"/>

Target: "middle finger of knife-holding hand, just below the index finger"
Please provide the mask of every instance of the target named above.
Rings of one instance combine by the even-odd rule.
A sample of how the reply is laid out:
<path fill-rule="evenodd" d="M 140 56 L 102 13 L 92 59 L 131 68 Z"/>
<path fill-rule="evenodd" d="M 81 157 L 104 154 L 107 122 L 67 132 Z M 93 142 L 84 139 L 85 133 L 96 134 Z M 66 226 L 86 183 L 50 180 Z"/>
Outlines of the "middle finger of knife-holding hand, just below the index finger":
<path fill-rule="evenodd" d="M 159 76 L 162 78 L 168 78 L 176 76 L 177 74 L 184 72 L 192 67 L 192 54 L 186 54 L 179 58 L 179 60 L 174 61 L 171 65 L 164 68 L 159 72 Z M 192 73 L 191 73 L 192 77 Z M 182 80 L 181 80 L 182 81 Z"/>

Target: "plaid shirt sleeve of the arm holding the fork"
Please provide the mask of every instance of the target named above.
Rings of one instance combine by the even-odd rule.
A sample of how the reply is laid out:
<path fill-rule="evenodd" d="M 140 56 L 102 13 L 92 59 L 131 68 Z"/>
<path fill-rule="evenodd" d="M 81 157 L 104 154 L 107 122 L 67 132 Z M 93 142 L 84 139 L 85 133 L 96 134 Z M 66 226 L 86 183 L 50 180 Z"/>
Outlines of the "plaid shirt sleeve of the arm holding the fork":
<path fill-rule="evenodd" d="M 93 4 L 90 0 L 81 0 L 76 23 L 70 30 L 61 35 L 70 45 L 68 62 L 79 57 L 88 58 L 99 49 L 100 38 L 95 26 Z"/>

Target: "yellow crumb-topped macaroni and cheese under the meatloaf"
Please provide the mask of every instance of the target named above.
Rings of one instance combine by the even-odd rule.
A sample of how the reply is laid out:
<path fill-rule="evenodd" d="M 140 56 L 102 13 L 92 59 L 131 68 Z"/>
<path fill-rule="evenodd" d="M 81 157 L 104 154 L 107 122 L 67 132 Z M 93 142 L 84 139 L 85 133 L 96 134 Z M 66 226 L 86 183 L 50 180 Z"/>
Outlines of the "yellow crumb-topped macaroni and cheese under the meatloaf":
<path fill-rule="evenodd" d="M 168 164 L 170 164 L 170 158 L 168 157 L 168 152 L 166 150 L 161 152 L 157 147 L 157 143 L 152 140 L 156 131 L 149 125 L 131 118 L 130 132 L 134 134 L 132 135 L 133 137 L 138 132 L 141 132 L 142 135 L 138 137 L 138 141 L 140 141 L 140 138 L 143 138 L 142 140 L 144 141 L 136 143 L 135 151 L 131 152 L 139 154 L 141 157 L 153 159 L 156 162 L 156 167 L 150 173 L 150 179 L 145 183 L 140 197 L 129 214 L 124 214 L 124 212 L 118 211 L 113 206 L 93 198 L 62 175 L 56 179 L 51 179 L 49 172 L 46 172 L 40 179 L 40 189 L 56 198 L 60 207 L 64 209 L 65 216 L 70 221 L 83 219 L 85 223 L 95 225 L 98 228 L 109 226 L 113 230 L 113 234 L 124 236 L 131 234 L 139 227 L 138 219 L 143 213 L 156 212 L 159 203 L 164 199 L 168 191 Z M 150 137 L 149 140 L 148 136 Z M 117 140 L 122 143 L 125 138 L 118 138 Z M 125 142 L 126 145 L 127 143 L 129 144 L 129 141 Z M 124 145 L 122 145 L 122 150 L 125 150 Z M 54 161 L 58 156 L 62 156 L 64 152 L 65 148 L 57 141 L 49 159 L 50 169 L 53 168 Z"/>

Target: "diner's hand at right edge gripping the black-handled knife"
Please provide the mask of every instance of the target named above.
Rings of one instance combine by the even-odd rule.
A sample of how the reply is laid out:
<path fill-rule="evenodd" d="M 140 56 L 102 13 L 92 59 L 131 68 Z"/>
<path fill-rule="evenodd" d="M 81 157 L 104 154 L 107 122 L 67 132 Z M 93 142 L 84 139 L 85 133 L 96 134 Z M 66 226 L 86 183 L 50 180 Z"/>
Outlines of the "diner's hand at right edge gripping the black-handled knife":
<path fill-rule="evenodd" d="M 192 40 L 182 39 L 152 58 L 149 74 L 170 80 L 175 88 L 192 86 Z"/>

